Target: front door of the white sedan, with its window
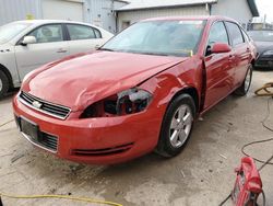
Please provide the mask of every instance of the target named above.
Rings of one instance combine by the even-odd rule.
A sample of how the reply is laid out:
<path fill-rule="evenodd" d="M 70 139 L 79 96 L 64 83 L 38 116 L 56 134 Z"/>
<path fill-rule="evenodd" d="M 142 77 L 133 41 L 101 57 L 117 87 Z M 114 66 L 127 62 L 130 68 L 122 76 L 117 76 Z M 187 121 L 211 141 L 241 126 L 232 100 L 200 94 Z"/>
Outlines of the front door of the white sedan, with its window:
<path fill-rule="evenodd" d="M 35 36 L 36 43 L 15 46 L 21 81 L 29 71 L 69 55 L 69 45 L 64 42 L 61 24 L 41 25 L 26 36 Z"/>

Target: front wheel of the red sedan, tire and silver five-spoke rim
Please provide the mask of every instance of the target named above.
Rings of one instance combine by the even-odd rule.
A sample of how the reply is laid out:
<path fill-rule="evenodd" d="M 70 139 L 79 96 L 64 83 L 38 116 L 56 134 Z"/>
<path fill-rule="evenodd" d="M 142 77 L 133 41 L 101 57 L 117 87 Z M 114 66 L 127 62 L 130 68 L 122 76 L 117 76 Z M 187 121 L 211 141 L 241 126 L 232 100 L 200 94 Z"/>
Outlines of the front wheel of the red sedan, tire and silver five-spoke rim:
<path fill-rule="evenodd" d="M 183 122 L 179 122 L 180 116 L 185 118 Z M 155 151 L 159 156 L 166 158 L 175 157 L 180 153 L 191 135 L 194 116 L 195 104 L 193 99 L 189 94 L 177 96 L 169 104 L 164 115 L 161 135 Z"/>

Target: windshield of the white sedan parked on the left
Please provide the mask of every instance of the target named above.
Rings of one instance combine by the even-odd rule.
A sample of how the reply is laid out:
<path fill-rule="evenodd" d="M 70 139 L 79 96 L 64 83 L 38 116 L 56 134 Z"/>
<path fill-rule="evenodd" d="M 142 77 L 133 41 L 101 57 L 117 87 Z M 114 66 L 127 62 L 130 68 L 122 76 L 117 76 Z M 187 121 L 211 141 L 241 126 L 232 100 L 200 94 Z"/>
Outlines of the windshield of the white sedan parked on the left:
<path fill-rule="evenodd" d="M 20 34 L 22 31 L 24 31 L 26 27 L 28 27 L 31 23 L 10 23 L 5 24 L 0 27 L 0 44 L 3 44 L 13 37 L 15 37 L 17 34 Z"/>

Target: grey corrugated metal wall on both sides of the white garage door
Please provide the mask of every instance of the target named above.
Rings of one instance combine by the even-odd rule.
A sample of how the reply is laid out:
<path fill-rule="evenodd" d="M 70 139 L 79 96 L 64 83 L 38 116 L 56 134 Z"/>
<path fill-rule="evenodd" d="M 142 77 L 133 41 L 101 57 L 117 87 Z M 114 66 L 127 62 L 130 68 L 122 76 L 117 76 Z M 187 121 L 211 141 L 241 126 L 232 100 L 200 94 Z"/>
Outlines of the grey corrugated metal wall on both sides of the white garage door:
<path fill-rule="evenodd" d="M 43 19 L 43 1 L 47 0 L 0 0 L 0 25 L 26 20 L 27 14 L 33 15 L 34 19 Z M 82 0 L 74 1 L 81 2 Z M 114 9 L 121 8 L 124 4 L 124 2 L 115 0 L 83 0 L 83 21 L 116 33 Z M 58 12 L 59 9 L 62 8 L 55 8 L 55 11 Z M 52 12 L 55 11 L 52 10 Z"/>

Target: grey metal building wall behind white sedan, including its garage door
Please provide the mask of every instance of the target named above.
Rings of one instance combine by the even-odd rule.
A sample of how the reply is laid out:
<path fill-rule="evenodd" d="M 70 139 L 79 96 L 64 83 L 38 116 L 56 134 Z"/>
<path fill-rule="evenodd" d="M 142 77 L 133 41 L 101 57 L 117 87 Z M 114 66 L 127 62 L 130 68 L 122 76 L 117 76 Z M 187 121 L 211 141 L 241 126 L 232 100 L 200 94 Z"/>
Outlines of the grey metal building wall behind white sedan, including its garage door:
<path fill-rule="evenodd" d="M 58 1 L 60 3 L 58 3 Z M 74 13 L 75 16 L 70 14 L 72 7 L 69 8 L 69 11 L 63 11 L 64 7 L 61 5 L 63 4 L 61 1 L 67 1 L 67 4 L 74 3 L 76 5 L 76 11 L 79 11 L 79 3 L 83 3 L 82 19 L 79 18 L 79 14 L 75 15 Z M 46 4 L 47 8 L 50 8 L 50 3 L 55 7 L 51 11 L 47 9 L 44 15 L 45 8 L 43 8 L 43 5 Z M 58 4 L 60 8 L 57 8 Z M 95 24 L 111 33 L 116 33 L 117 20 L 114 10 L 119 9 L 124 4 L 124 2 L 115 0 L 0 0 L 0 25 L 13 21 L 26 20 L 27 16 L 36 20 L 44 18 L 62 20 L 74 19 L 78 21 L 83 20 L 85 23 Z"/>

